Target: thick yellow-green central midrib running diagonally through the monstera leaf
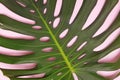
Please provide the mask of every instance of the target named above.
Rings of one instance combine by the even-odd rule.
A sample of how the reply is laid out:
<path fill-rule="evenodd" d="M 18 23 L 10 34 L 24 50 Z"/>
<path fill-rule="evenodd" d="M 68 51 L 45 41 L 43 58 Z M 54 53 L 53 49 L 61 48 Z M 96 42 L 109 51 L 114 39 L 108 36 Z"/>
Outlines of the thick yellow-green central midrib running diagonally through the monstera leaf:
<path fill-rule="evenodd" d="M 41 13 L 39 12 L 38 8 L 36 7 L 36 5 L 32 2 L 32 5 L 34 6 L 34 8 L 36 9 L 39 18 L 42 20 L 42 22 L 44 23 L 45 27 L 47 28 L 48 32 L 50 33 L 54 43 L 56 44 L 58 50 L 60 51 L 60 54 L 62 55 L 63 59 L 65 60 L 66 65 L 68 66 L 68 68 L 70 69 L 71 73 L 74 72 L 74 68 L 72 67 L 70 61 L 68 60 L 67 56 L 65 55 L 64 50 L 61 48 L 59 42 L 57 41 L 55 35 L 52 33 L 52 30 L 49 28 L 47 22 L 45 21 L 45 19 L 42 17 Z"/>

